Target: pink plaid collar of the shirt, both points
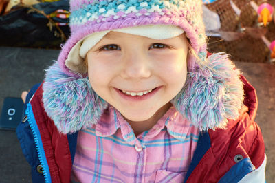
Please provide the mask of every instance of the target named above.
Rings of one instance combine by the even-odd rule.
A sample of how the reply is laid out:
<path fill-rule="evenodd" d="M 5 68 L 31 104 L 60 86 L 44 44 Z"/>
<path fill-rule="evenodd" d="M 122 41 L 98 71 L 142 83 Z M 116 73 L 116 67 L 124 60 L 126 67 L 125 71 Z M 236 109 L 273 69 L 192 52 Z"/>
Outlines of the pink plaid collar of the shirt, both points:
<path fill-rule="evenodd" d="M 190 129 L 192 131 L 198 130 L 172 106 L 166 111 L 166 114 L 159 119 L 157 124 L 140 135 L 144 138 L 153 138 L 165 127 L 171 136 L 181 141 L 186 140 Z M 135 134 L 133 133 L 131 125 L 129 125 L 120 112 L 111 105 L 104 111 L 95 129 L 96 135 L 102 137 L 112 136 L 116 131 L 120 130 L 126 142 L 135 144 Z"/>

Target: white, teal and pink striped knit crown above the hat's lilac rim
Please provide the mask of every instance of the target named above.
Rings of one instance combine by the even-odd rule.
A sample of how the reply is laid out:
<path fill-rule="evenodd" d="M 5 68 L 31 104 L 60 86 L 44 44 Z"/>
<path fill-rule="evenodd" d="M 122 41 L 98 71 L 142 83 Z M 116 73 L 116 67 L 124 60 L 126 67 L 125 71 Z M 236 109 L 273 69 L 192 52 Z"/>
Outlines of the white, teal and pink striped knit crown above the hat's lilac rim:
<path fill-rule="evenodd" d="M 201 6 L 200 1 L 71 1 L 72 31 L 78 26 L 89 23 L 114 22 L 126 19 L 186 19 L 199 37 L 203 37 L 203 26 L 195 10 Z M 200 39 L 205 43 L 204 39 Z"/>

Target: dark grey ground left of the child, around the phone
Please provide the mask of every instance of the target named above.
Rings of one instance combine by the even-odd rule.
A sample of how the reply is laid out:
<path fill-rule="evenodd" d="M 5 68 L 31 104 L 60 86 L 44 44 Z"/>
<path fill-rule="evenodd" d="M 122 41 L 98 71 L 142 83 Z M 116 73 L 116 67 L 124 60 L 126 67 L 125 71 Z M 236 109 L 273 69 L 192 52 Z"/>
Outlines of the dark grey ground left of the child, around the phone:
<path fill-rule="evenodd" d="M 0 47 L 0 111 L 7 96 L 20 97 L 22 90 L 44 78 L 44 69 L 52 65 L 58 50 L 33 50 Z M 0 182 L 32 182 L 15 131 L 0 130 Z"/>

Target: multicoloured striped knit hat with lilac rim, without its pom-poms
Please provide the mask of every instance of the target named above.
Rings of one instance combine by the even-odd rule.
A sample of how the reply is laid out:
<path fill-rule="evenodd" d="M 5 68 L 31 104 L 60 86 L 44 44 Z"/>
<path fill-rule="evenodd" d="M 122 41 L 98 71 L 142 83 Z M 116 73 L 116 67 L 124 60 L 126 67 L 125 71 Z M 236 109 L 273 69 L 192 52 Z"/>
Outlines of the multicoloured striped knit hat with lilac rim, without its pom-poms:
<path fill-rule="evenodd" d="M 174 25 L 186 32 L 191 46 L 199 56 L 206 56 L 206 35 L 202 19 L 202 1 L 167 0 L 71 0 L 70 26 L 72 36 L 58 57 L 61 69 L 69 76 L 85 74 L 78 56 L 71 59 L 71 50 L 89 34 L 140 25 Z M 195 69 L 195 57 L 188 61 L 188 69 Z M 69 66 L 69 68 L 68 68 Z"/>

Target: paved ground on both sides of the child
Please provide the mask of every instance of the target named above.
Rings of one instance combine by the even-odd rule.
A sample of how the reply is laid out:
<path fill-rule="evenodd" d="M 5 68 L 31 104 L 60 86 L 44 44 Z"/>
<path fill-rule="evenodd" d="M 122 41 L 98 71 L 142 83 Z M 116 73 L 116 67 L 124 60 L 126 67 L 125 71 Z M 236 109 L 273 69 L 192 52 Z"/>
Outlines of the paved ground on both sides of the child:
<path fill-rule="evenodd" d="M 41 82 L 44 69 L 52 65 L 58 50 L 33 50 L 0 47 L 0 111 L 3 98 L 20 97 L 22 90 L 28 90 Z M 267 63 L 236 63 L 246 78 L 256 87 L 259 123 L 265 140 L 267 153 L 267 183 L 275 182 L 275 65 Z M 23 157 L 14 131 L 0 130 L 0 182 L 31 182 L 30 167 Z"/>

